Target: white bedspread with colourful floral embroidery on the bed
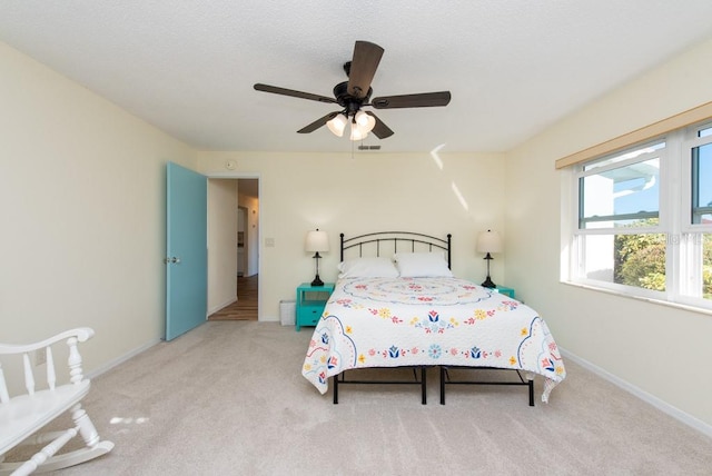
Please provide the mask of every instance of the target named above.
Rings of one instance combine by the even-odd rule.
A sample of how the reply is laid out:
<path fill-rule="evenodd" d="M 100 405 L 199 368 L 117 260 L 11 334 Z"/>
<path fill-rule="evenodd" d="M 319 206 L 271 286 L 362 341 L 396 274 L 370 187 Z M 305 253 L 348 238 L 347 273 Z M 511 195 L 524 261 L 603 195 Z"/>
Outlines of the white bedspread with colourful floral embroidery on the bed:
<path fill-rule="evenodd" d="M 457 278 L 349 278 L 337 282 L 301 374 L 322 393 L 328 377 L 363 367 L 451 365 L 545 377 L 543 401 L 564 379 L 546 323 L 528 306 Z"/>

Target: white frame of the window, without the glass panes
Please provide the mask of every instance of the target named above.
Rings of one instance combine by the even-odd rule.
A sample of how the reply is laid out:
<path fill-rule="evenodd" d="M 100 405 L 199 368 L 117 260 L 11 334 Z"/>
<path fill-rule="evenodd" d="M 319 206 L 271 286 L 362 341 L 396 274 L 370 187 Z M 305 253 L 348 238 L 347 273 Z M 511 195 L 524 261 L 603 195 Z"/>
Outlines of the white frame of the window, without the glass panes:
<path fill-rule="evenodd" d="M 712 300 L 699 295 L 702 288 L 702 268 L 694 266 L 701 262 L 702 240 L 701 234 L 712 232 L 712 225 L 692 224 L 692 149 L 694 147 L 712 143 L 712 135 L 698 137 L 702 129 L 712 127 L 712 122 L 678 129 L 659 136 L 652 140 L 645 140 L 631 145 L 614 153 L 606 153 L 596 159 L 576 163 L 571 172 L 563 177 L 568 180 L 564 185 L 562 198 L 568 196 L 570 212 L 564 217 L 562 230 L 564 232 L 565 250 L 562 254 L 568 264 L 562 264 L 562 280 L 580 284 L 587 287 L 601 288 L 627 295 L 664 303 L 681 304 L 693 308 L 712 309 Z M 609 166 L 584 171 L 584 168 L 597 161 L 604 161 L 621 156 L 626 151 L 644 148 L 647 145 L 665 141 L 665 147 L 653 152 L 641 155 L 631 159 L 620 160 Z M 649 160 L 654 155 L 660 157 L 660 198 L 659 224 L 654 227 L 641 228 L 580 228 L 580 179 L 582 177 L 599 173 L 611 168 L 625 167 Z M 605 235 L 639 235 L 664 234 L 666 237 L 665 249 L 665 290 L 656 291 L 642 287 L 627 286 L 616 282 L 597 280 L 585 276 L 585 239 L 589 236 Z M 699 246 L 698 246 L 699 245 Z M 698 294 L 695 296 L 695 292 Z"/>

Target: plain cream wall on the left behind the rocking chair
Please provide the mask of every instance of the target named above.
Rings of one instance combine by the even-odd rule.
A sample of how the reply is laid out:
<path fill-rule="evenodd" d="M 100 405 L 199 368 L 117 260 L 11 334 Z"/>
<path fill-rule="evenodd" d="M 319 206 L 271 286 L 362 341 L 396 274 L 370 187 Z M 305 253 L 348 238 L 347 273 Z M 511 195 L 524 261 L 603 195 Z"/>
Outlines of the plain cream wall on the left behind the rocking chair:
<path fill-rule="evenodd" d="M 165 165 L 195 151 L 0 43 L 0 340 L 97 335 L 95 370 L 164 333 Z"/>

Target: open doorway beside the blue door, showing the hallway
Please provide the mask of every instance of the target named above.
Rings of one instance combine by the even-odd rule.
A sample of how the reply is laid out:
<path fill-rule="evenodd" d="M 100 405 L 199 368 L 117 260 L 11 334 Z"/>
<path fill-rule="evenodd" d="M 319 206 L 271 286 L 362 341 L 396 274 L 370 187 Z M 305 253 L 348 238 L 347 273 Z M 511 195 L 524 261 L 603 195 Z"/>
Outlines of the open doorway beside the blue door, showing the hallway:
<path fill-rule="evenodd" d="M 258 320 L 259 179 L 208 182 L 208 320 Z"/>

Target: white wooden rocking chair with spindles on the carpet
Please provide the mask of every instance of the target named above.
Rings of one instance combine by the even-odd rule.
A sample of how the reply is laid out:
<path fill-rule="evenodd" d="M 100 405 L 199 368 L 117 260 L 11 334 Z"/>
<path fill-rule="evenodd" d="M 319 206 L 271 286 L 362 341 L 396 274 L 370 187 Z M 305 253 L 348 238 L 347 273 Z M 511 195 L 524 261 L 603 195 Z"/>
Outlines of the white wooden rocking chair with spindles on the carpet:
<path fill-rule="evenodd" d="M 91 419 L 79 403 L 89 393 L 90 381 L 82 376 L 81 356 L 77 344 L 86 341 L 91 336 L 93 336 L 93 330 L 83 327 L 61 333 L 36 344 L 0 344 L 0 357 L 21 356 L 27 388 L 26 393 L 10 396 L 0 361 L 0 475 L 19 476 L 28 475 L 34 470 L 50 472 L 78 465 L 105 455 L 113 448 L 113 443 L 100 440 Z M 67 364 L 70 381 L 57 385 L 52 345 L 65 339 L 69 346 Z M 31 356 L 47 360 L 47 388 L 34 389 Z M 14 360 L 19 365 L 20 358 L 16 357 Z M 73 427 L 61 432 L 39 433 L 42 427 L 65 411 L 71 413 Z M 56 455 L 77 434 L 81 435 L 86 446 L 81 449 Z M 43 445 L 48 442 L 48 445 L 27 462 L 3 463 L 4 455 L 18 445 Z"/>

